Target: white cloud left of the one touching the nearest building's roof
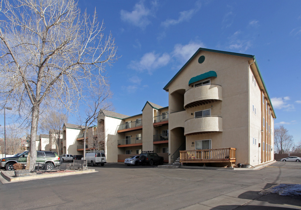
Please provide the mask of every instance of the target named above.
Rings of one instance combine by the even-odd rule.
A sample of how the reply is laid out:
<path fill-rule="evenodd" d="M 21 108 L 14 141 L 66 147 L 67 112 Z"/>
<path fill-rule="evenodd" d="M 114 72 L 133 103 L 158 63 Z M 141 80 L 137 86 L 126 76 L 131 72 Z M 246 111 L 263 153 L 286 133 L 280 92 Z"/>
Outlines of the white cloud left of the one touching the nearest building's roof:
<path fill-rule="evenodd" d="M 154 52 L 145 53 L 140 61 L 131 61 L 129 68 L 135 69 L 139 72 L 144 72 L 145 70 L 149 75 L 152 75 L 155 69 L 163 67 L 169 63 L 170 56 L 168 53 L 162 55 L 155 54 Z"/>

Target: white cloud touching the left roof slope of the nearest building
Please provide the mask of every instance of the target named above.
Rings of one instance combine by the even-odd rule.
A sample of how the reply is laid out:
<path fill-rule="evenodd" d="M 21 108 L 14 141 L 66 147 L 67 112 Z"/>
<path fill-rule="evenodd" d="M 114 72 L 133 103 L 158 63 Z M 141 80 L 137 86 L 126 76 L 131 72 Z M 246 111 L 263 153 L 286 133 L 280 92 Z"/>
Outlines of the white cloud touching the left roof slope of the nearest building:
<path fill-rule="evenodd" d="M 174 47 L 174 50 L 172 52 L 172 55 L 180 60 L 180 62 L 186 62 L 188 61 L 191 56 L 200 48 L 204 47 L 205 45 L 202 42 L 189 42 L 186 45 L 182 44 L 176 44 Z"/>

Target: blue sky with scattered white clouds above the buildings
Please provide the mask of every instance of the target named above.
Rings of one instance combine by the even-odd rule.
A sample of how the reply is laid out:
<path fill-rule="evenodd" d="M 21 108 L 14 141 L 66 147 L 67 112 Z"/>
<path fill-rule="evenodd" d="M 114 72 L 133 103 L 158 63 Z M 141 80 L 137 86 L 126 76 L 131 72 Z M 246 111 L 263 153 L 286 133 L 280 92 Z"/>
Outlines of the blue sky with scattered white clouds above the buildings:
<path fill-rule="evenodd" d="M 163 87 L 199 47 L 255 55 L 277 119 L 301 141 L 301 1 L 80 0 L 121 56 L 109 72 L 116 112 L 168 106 Z M 0 121 L 2 124 L 3 122 Z M 77 123 L 74 118 L 70 123 Z"/>

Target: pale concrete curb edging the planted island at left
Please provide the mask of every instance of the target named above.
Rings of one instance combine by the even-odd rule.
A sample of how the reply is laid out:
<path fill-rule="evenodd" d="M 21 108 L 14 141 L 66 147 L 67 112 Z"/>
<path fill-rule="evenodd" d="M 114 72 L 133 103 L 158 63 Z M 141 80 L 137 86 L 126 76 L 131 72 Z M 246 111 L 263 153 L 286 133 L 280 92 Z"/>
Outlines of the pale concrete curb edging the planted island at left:
<path fill-rule="evenodd" d="M 11 177 L 5 171 L 1 171 L 1 175 L 9 182 L 17 182 L 17 181 L 28 181 L 34 179 L 43 179 L 43 178 L 52 178 L 52 177 L 60 177 L 60 176 L 69 176 L 69 175 L 76 175 L 76 174 L 87 174 L 98 172 L 95 169 L 88 169 L 85 171 L 75 171 L 75 172 L 67 172 L 67 173 L 60 173 L 60 174 L 42 174 L 42 175 L 34 175 L 34 176 L 23 176 L 23 177 Z"/>

